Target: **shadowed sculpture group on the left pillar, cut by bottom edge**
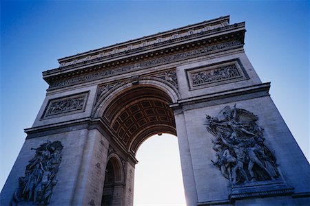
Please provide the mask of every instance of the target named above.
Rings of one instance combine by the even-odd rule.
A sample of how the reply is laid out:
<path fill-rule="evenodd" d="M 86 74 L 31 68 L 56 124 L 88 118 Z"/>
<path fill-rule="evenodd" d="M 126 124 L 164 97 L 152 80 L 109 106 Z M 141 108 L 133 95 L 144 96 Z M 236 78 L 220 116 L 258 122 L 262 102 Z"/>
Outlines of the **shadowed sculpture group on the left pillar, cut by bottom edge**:
<path fill-rule="evenodd" d="M 36 153 L 26 166 L 25 176 L 19 177 L 19 187 L 14 192 L 11 205 L 50 203 L 62 149 L 60 141 L 48 141 L 39 148 L 32 148 Z"/>

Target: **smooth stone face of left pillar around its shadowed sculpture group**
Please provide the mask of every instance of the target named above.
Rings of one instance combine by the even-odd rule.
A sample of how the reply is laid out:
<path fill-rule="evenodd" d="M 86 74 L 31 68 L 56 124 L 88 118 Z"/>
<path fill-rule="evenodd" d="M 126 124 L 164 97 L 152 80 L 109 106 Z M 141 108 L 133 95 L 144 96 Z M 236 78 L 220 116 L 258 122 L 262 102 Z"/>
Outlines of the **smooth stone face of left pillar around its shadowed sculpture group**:
<path fill-rule="evenodd" d="M 41 144 L 48 141 L 60 141 L 63 145 L 61 151 L 61 163 L 56 174 L 56 185 L 52 190 L 50 205 L 70 205 L 72 204 L 72 196 L 74 196 L 75 186 L 79 179 L 79 170 L 83 159 L 83 148 L 87 140 L 88 130 L 74 130 L 52 135 L 41 134 L 37 137 L 36 133 L 28 135 L 21 152 L 14 163 L 10 176 L 6 181 L 1 192 L 0 205 L 9 205 L 14 192 L 19 187 L 19 177 L 25 176 L 25 168 L 34 155 L 35 150 L 31 148 L 39 148 Z M 79 138 L 76 138 L 79 137 Z"/>

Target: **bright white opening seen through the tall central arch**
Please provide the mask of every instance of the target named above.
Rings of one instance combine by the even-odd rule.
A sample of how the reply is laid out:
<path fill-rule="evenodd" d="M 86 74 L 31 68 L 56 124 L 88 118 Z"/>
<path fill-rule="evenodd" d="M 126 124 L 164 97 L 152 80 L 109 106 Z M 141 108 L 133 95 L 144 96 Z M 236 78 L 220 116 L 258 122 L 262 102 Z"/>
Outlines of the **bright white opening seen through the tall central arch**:
<path fill-rule="evenodd" d="M 176 136 L 152 135 L 136 159 L 134 205 L 186 205 Z"/>

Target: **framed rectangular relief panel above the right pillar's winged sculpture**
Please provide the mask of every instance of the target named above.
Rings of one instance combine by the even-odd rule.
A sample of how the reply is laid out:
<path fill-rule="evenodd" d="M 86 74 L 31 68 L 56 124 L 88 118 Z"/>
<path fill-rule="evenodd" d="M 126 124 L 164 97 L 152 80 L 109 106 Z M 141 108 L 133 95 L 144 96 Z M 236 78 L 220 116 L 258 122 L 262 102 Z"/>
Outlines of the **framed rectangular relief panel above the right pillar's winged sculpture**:
<path fill-rule="evenodd" d="M 190 89 L 212 87 L 219 84 L 245 80 L 248 78 L 240 60 L 234 59 L 226 62 L 218 62 L 187 70 Z"/>

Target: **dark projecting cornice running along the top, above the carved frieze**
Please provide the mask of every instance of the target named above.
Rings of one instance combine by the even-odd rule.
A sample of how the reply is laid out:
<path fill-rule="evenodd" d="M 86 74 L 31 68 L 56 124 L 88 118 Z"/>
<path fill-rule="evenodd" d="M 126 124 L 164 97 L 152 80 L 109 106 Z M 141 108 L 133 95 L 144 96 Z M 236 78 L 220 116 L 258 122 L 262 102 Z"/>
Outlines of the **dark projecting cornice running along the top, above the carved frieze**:
<path fill-rule="evenodd" d="M 70 67 L 59 67 L 43 72 L 43 79 L 52 85 L 61 79 L 70 79 L 74 76 L 83 76 L 85 73 L 95 71 L 107 71 L 125 65 L 132 65 L 136 62 L 142 62 L 160 56 L 185 52 L 190 49 L 214 45 L 216 43 L 225 43 L 238 40 L 240 44 L 244 43 L 245 27 L 244 23 L 230 25 L 234 28 L 226 31 L 220 31 L 216 34 L 193 34 L 194 37 L 186 38 L 183 42 L 169 41 L 161 45 L 149 45 L 139 48 L 136 52 L 121 52 L 113 54 L 110 57 L 96 58 L 87 62 L 78 63 Z M 229 26 L 229 27 L 230 27 Z M 222 28 L 218 28 L 222 29 Z M 195 36 L 196 35 L 196 36 Z M 53 87 L 53 86 L 52 86 Z"/>

